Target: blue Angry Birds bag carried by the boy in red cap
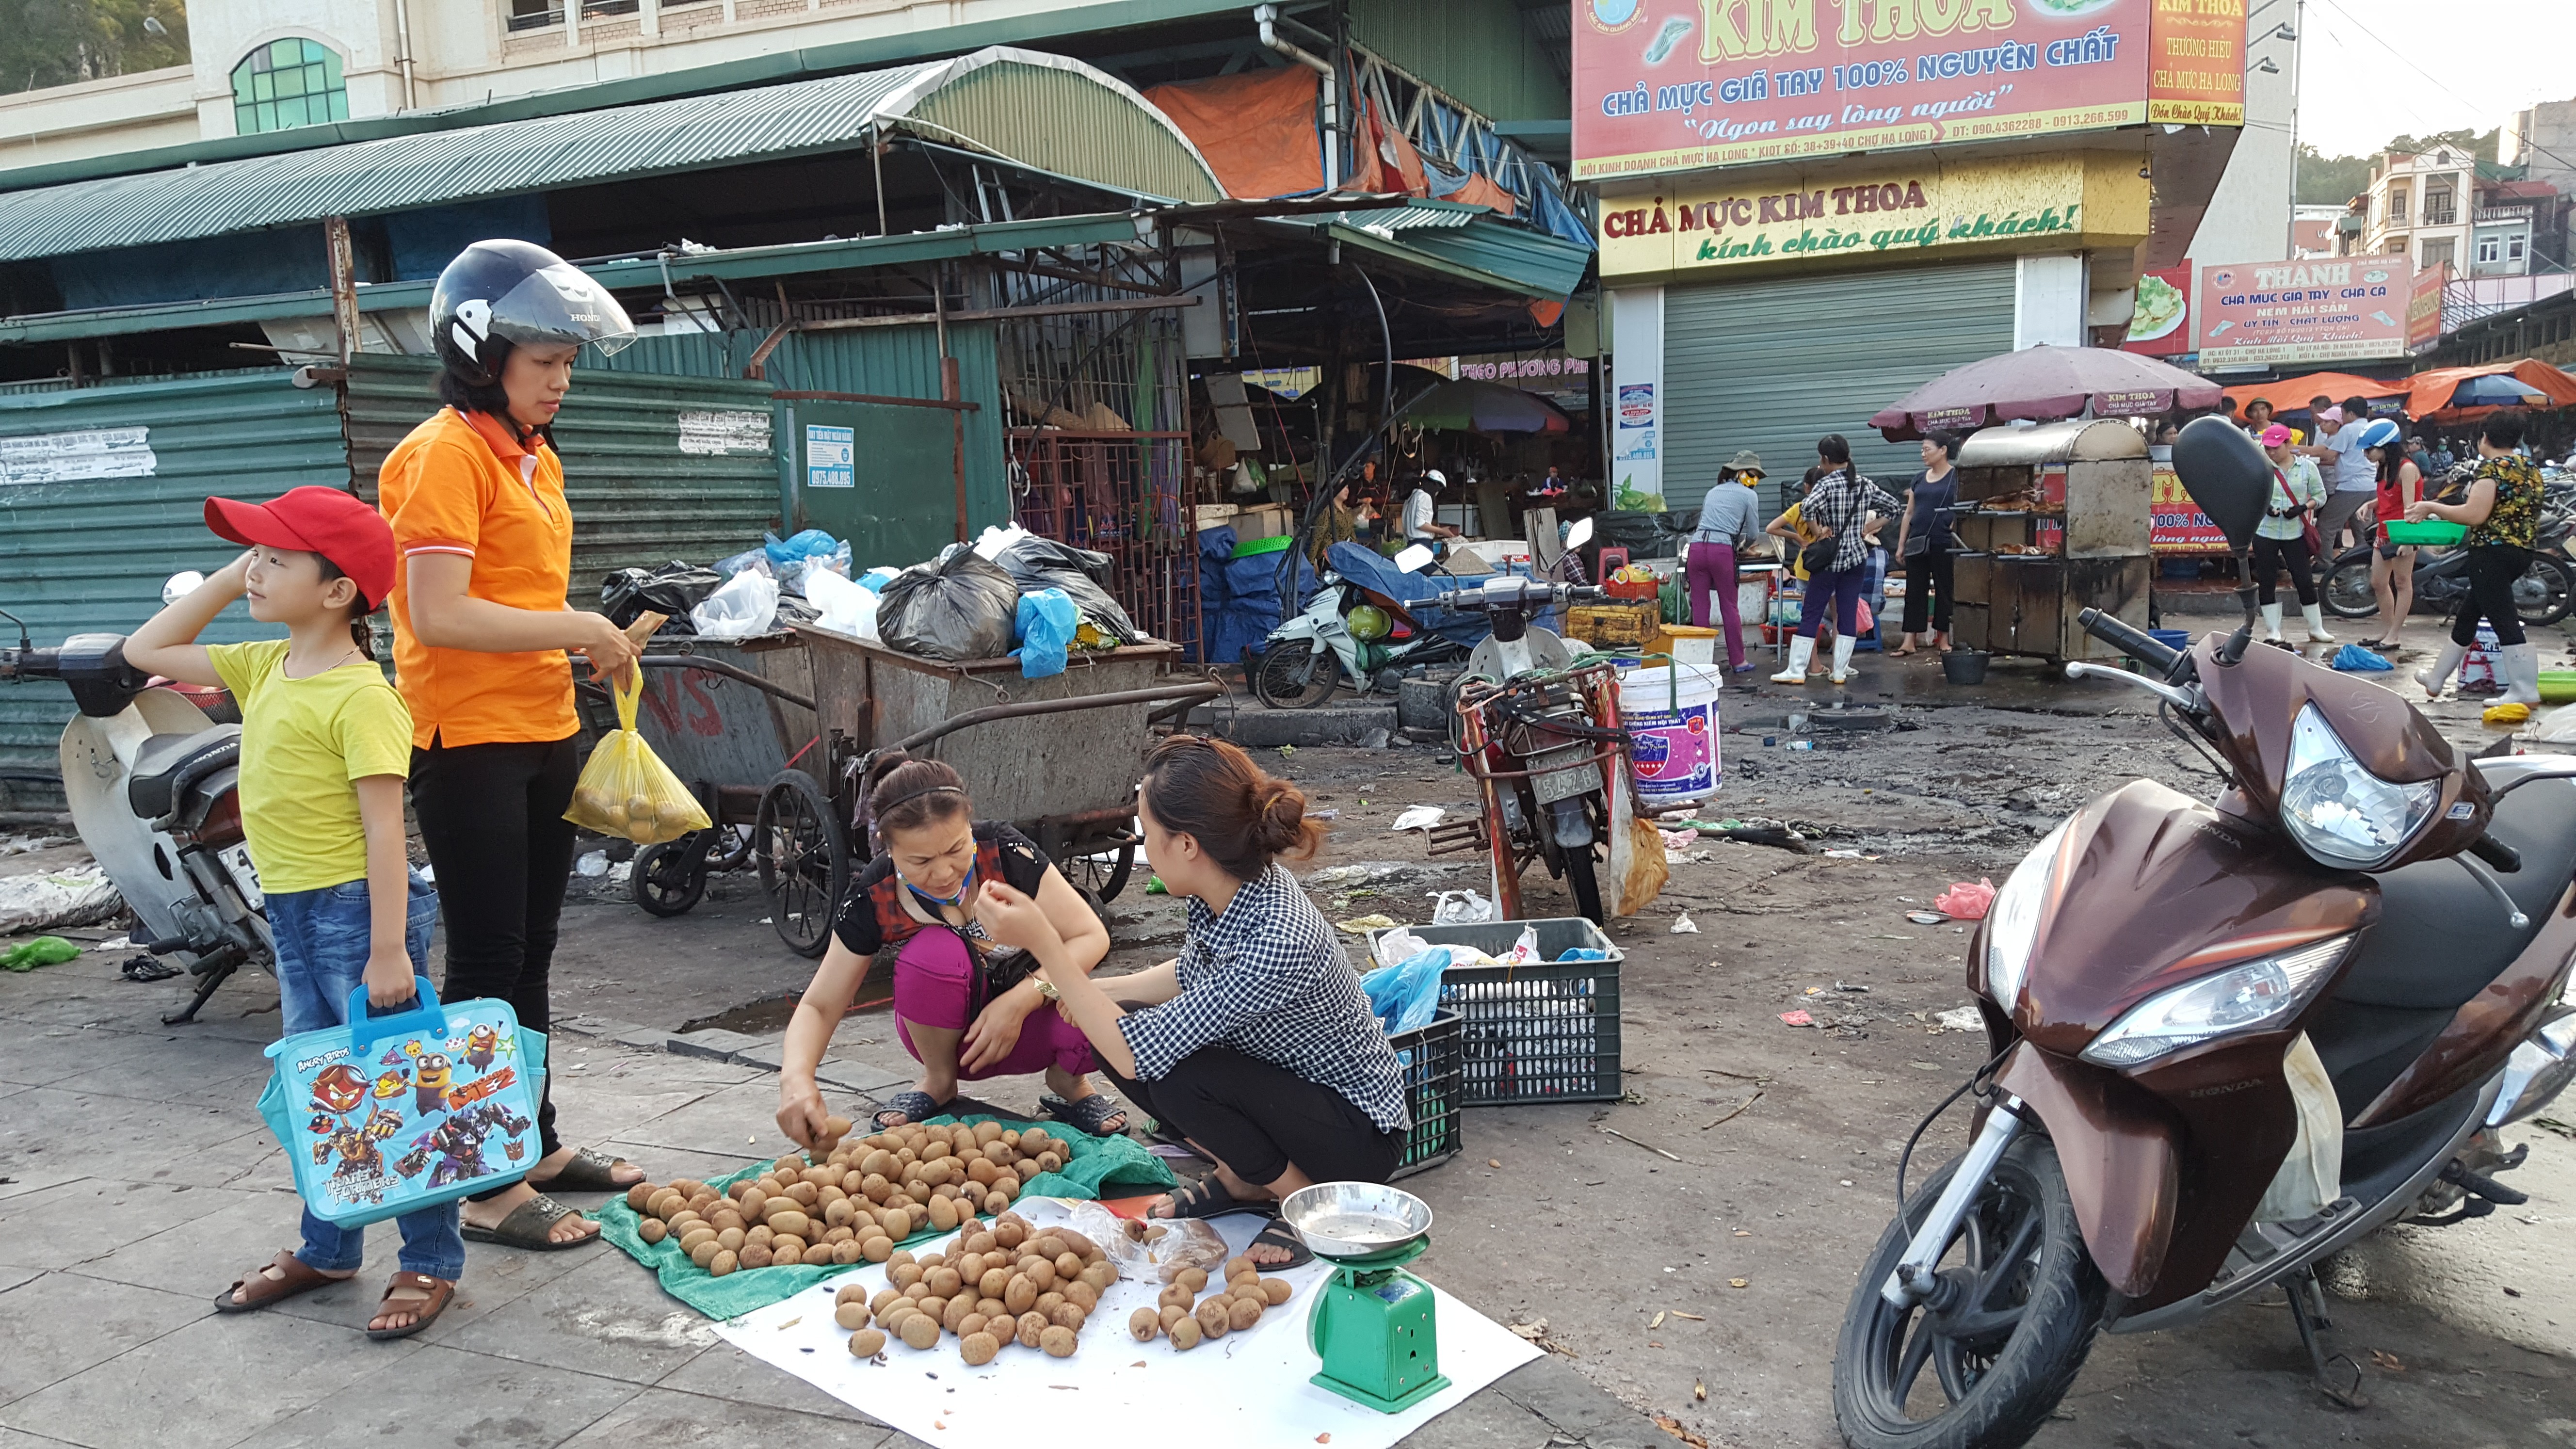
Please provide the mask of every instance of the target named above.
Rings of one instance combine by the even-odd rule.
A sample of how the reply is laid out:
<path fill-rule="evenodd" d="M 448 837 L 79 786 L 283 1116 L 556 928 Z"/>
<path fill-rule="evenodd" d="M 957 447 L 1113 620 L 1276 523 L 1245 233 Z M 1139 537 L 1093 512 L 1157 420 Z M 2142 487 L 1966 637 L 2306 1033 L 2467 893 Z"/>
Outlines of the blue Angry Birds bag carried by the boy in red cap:
<path fill-rule="evenodd" d="M 510 1186 L 538 1158 L 546 1034 L 507 1000 L 440 1006 L 430 977 L 412 982 L 420 1000 L 392 1016 L 368 1016 L 361 985 L 348 1026 L 268 1047 L 260 1116 L 304 1207 L 340 1227 Z"/>

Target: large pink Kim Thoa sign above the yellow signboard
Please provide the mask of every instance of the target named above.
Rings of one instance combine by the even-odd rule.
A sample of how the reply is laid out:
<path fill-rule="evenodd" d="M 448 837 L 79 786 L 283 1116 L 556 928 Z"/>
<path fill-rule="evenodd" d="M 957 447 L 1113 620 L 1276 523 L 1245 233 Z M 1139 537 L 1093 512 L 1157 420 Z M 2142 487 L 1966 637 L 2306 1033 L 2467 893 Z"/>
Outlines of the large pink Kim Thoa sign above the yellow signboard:
<path fill-rule="evenodd" d="M 2244 124 L 2246 0 L 1574 0 L 1574 175 Z"/>

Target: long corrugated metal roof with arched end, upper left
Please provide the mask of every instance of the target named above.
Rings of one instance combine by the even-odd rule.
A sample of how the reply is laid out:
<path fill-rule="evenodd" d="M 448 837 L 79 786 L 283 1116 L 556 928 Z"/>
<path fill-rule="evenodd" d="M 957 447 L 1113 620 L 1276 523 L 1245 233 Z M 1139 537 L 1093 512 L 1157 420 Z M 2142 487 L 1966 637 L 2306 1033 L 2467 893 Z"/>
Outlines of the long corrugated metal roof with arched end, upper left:
<path fill-rule="evenodd" d="M 902 129 L 940 90 L 989 67 L 1030 101 L 1056 106 L 976 106 L 984 134 L 930 126 L 943 142 L 1007 160 L 1061 152 L 1043 116 L 1061 113 L 1069 95 L 1090 88 L 1105 93 L 1090 111 L 1103 113 L 1123 95 L 1159 129 L 1128 129 L 1128 144 L 1110 147 L 1077 180 L 1167 201 L 1224 196 L 1198 147 L 1121 80 L 1064 57 L 992 46 L 951 62 L 18 191 L 0 196 L 0 260 L 845 150 L 860 144 L 871 126 Z M 994 77 L 976 80 L 979 90 L 989 85 Z M 1159 150 L 1154 137 L 1162 137 Z M 1193 180 L 1193 196 L 1146 188 L 1146 180 L 1177 188 Z"/>

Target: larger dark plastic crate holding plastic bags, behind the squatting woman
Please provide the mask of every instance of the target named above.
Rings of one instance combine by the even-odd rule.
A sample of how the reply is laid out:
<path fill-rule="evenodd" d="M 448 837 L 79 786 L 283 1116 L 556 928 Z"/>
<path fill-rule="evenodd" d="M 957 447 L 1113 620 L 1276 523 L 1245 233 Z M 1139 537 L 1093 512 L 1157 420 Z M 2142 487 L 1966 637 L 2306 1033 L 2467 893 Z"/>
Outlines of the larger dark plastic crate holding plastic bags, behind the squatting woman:
<path fill-rule="evenodd" d="M 1427 946 L 1476 946 L 1499 957 L 1538 928 L 1540 962 L 1528 967 L 1450 967 L 1440 972 L 1440 1008 L 1466 1026 L 1466 1106 L 1528 1101 L 1618 1101 L 1620 1031 L 1618 967 L 1625 954 L 1582 915 L 1489 920 L 1484 926 L 1409 926 Z M 1376 964 L 1378 938 L 1368 933 Z M 1607 951 L 1602 962 L 1556 962 L 1571 949 Z"/>

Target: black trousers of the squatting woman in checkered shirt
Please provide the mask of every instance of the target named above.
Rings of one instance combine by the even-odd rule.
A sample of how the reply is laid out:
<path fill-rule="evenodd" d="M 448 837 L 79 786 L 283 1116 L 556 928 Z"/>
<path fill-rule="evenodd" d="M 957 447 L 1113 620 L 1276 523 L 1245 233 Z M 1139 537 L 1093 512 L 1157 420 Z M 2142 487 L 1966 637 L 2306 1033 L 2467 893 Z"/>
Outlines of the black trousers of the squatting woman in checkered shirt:
<path fill-rule="evenodd" d="M 1319 1183 L 1383 1183 L 1404 1158 L 1404 1134 L 1347 1096 L 1234 1047 L 1200 1047 L 1151 1083 L 1108 1078 L 1247 1183 L 1275 1183 L 1288 1163 Z"/>

